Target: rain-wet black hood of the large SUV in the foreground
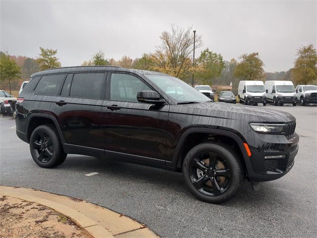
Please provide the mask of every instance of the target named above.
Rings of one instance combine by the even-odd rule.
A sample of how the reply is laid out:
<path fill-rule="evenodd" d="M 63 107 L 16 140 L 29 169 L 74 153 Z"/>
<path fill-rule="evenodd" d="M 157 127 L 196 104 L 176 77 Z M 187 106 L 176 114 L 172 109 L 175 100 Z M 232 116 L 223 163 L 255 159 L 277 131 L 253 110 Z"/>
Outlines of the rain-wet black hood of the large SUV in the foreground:
<path fill-rule="evenodd" d="M 170 112 L 213 118 L 245 120 L 246 122 L 289 122 L 295 120 L 293 115 L 274 109 L 214 102 L 174 105 L 171 107 Z"/>

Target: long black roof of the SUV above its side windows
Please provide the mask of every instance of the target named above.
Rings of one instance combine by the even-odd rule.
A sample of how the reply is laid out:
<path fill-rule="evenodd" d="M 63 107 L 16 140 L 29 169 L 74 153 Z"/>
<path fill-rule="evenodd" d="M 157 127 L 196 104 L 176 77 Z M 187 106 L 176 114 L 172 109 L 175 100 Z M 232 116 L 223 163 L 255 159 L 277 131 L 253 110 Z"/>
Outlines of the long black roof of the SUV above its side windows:
<path fill-rule="evenodd" d="M 143 74 L 166 75 L 164 73 L 160 73 L 160 72 L 156 72 L 156 71 L 131 69 L 131 68 L 121 68 L 121 67 L 112 66 L 112 65 L 100 65 L 100 66 L 71 66 L 71 67 L 51 68 L 51 69 L 46 69 L 44 71 L 33 73 L 31 75 L 31 77 L 35 77 L 38 75 L 51 74 L 51 73 L 72 73 L 72 72 L 92 72 L 92 71 L 129 72 L 129 73 L 134 73 L 134 74 L 141 76 L 141 77 Z"/>

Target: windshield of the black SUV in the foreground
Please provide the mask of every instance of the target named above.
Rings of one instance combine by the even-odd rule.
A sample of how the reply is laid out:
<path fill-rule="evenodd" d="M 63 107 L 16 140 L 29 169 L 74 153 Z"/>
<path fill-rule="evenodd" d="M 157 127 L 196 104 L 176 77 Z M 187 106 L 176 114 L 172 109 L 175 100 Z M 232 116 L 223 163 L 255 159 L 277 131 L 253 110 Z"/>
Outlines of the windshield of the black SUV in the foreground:
<path fill-rule="evenodd" d="M 150 79 L 153 83 L 155 83 L 163 92 L 165 92 L 168 96 L 172 97 L 178 102 L 207 102 L 210 101 L 208 97 L 206 97 L 201 92 L 194 89 L 192 86 L 188 85 L 184 81 L 165 75 L 145 75 L 148 79 Z"/>

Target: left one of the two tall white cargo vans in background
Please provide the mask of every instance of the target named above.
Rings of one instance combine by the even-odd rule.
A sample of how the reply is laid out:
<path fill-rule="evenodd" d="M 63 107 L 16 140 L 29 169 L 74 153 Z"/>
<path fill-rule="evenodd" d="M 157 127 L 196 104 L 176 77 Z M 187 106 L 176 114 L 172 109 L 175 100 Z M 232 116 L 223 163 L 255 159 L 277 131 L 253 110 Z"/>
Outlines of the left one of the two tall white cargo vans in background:
<path fill-rule="evenodd" d="M 266 94 L 263 81 L 240 81 L 238 87 L 240 103 L 245 105 L 263 103 L 266 105 Z"/>

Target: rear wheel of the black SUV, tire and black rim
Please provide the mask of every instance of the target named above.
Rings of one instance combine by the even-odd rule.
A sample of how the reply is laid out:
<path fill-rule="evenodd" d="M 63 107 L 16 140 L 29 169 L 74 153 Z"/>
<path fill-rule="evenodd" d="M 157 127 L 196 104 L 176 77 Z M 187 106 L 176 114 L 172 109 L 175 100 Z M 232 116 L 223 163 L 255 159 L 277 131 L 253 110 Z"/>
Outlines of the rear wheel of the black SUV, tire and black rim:
<path fill-rule="evenodd" d="M 30 151 L 34 162 L 42 168 L 56 167 L 67 156 L 56 129 L 50 125 L 40 125 L 34 129 L 30 138 Z"/>

